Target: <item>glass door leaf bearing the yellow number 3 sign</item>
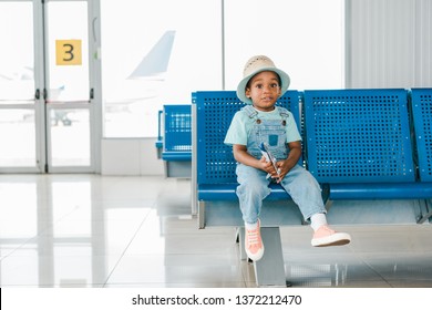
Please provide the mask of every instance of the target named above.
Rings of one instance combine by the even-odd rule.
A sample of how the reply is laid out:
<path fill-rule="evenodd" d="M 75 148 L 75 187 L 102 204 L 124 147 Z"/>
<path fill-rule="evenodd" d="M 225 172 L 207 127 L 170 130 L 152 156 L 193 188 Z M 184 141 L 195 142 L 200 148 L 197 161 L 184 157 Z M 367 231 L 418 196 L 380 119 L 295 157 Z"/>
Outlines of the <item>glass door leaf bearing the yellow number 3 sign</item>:
<path fill-rule="evenodd" d="M 50 172 L 91 170 L 93 91 L 88 1 L 47 1 L 45 117 Z"/>

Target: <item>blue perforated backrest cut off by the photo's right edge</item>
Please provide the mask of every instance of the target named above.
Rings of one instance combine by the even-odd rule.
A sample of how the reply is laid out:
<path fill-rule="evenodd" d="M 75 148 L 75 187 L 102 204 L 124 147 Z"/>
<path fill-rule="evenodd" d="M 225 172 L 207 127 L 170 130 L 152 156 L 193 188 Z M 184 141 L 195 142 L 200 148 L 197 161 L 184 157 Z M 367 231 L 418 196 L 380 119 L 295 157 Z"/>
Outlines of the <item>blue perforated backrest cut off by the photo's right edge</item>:
<path fill-rule="evenodd" d="M 432 89 L 411 90 L 411 108 L 420 179 L 432 182 Z"/>

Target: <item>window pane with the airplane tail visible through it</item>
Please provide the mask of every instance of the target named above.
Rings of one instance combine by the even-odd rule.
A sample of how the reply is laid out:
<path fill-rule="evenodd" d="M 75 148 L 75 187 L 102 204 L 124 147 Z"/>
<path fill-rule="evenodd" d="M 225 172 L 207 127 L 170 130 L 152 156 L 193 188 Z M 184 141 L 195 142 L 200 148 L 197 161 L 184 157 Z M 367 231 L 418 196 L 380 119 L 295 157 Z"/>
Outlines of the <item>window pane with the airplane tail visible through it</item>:
<path fill-rule="evenodd" d="M 220 0 L 101 1 L 104 137 L 156 137 L 164 104 L 222 89 Z"/>

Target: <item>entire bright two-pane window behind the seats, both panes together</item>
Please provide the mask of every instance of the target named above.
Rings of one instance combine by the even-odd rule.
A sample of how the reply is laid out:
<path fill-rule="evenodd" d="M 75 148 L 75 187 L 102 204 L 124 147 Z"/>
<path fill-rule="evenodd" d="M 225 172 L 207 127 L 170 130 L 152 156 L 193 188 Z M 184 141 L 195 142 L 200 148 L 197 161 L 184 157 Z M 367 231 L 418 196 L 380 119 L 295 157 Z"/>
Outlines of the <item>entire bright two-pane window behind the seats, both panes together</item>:
<path fill-rule="evenodd" d="M 254 54 L 286 70 L 290 89 L 342 86 L 342 0 L 224 4 L 226 90 Z M 101 0 L 101 16 L 104 137 L 156 137 L 164 104 L 223 89 L 220 0 Z"/>

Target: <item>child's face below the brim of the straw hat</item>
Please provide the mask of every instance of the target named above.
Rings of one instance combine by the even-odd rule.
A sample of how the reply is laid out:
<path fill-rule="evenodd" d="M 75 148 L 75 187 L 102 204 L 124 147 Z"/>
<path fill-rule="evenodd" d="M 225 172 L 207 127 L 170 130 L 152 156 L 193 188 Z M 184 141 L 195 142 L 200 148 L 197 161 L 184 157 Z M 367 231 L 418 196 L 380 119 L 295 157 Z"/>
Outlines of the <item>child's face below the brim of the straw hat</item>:
<path fill-rule="evenodd" d="M 263 112 L 275 108 L 280 92 L 278 75 L 272 71 L 257 73 L 246 87 L 246 96 L 251 99 L 255 108 Z"/>

